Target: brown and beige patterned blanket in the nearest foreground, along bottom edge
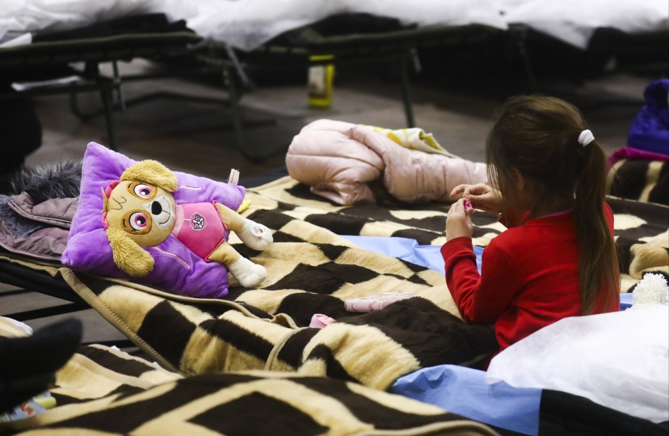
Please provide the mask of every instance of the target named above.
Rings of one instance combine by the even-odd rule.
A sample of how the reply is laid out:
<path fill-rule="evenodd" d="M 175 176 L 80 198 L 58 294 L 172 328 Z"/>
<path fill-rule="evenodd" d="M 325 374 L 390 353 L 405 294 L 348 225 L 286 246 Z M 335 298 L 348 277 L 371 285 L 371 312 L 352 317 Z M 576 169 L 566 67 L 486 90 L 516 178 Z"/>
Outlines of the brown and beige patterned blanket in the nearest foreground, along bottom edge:
<path fill-rule="evenodd" d="M 0 329 L 0 336 L 21 336 Z M 0 338 L 3 340 L 4 338 Z M 0 422 L 20 435 L 498 435 L 439 407 L 353 382 L 247 371 L 182 377 L 103 345 L 79 347 L 56 407 Z"/>

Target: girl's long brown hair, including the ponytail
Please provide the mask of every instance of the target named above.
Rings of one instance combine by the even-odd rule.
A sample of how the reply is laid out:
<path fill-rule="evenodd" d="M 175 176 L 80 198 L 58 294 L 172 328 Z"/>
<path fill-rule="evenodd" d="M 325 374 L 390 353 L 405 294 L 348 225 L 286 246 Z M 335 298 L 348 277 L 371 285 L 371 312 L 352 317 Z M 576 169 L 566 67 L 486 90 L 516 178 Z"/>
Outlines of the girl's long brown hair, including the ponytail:
<path fill-rule="evenodd" d="M 527 194 L 535 204 L 546 198 L 573 198 L 583 313 L 592 313 L 604 287 L 604 301 L 617 297 L 619 270 L 615 244 L 603 203 L 608 172 L 606 153 L 597 141 L 582 146 L 587 129 L 572 104 L 541 95 L 512 97 L 498 112 L 486 145 L 491 184 L 505 201 Z M 514 171 L 528 180 L 514 188 Z"/>

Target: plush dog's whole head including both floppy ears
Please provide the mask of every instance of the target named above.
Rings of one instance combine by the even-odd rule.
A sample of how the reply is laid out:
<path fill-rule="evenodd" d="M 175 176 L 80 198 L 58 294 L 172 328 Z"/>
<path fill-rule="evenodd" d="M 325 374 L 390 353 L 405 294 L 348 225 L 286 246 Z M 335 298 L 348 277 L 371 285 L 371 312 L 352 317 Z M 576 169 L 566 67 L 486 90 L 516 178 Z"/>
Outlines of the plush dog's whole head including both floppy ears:
<path fill-rule="evenodd" d="M 171 192 L 177 186 L 172 171 L 155 160 L 144 160 L 102 188 L 102 226 L 120 270 L 133 277 L 153 270 L 155 260 L 142 247 L 155 247 L 169 237 L 176 219 Z"/>

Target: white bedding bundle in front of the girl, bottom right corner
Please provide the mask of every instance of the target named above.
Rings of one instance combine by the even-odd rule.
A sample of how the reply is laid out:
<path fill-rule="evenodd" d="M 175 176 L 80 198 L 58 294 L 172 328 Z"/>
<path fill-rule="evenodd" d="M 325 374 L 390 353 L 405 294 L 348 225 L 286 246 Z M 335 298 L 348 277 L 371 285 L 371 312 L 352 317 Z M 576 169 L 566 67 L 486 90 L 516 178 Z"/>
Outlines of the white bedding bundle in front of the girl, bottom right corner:
<path fill-rule="evenodd" d="M 486 381 L 500 380 L 669 421 L 669 306 L 557 321 L 493 358 Z"/>

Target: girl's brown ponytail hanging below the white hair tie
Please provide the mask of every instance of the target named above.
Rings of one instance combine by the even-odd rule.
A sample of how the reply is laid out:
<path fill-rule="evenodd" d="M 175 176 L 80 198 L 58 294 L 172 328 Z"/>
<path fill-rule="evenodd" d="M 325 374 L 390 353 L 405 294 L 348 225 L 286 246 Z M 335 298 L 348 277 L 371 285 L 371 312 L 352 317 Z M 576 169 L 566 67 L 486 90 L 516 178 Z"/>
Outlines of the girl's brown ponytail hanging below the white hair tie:
<path fill-rule="evenodd" d="M 606 154 L 597 142 L 586 145 L 583 152 L 585 165 L 576 181 L 574 221 L 579 246 L 580 298 L 583 315 L 588 315 L 600 299 L 608 306 L 620 291 L 615 244 L 604 214 Z M 600 295 L 602 289 L 604 294 Z"/>

